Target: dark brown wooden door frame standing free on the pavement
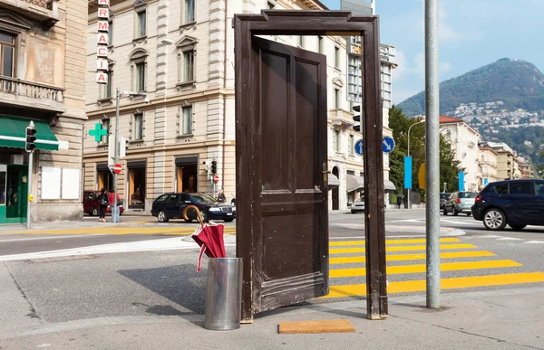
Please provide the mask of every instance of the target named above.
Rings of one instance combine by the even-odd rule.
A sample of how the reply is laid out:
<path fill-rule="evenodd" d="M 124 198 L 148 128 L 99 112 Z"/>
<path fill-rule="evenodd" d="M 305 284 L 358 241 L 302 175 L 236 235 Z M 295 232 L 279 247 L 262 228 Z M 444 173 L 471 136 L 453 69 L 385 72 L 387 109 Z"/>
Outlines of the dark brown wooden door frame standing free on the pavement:
<path fill-rule="evenodd" d="M 237 257 L 243 258 L 242 320 L 253 319 L 252 226 L 254 172 L 251 160 L 255 129 L 257 91 L 252 59 L 254 35 L 345 35 L 361 36 L 364 71 L 364 215 L 366 246 L 366 317 L 387 317 L 385 274 L 384 160 L 382 154 L 382 100 L 380 90 L 380 40 L 377 16 L 355 16 L 347 11 L 264 10 L 261 14 L 235 14 L 235 104 Z M 364 53 L 364 54 L 363 54 Z M 242 195 L 243 194 L 243 195 Z M 371 205 L 371 203 L 374 203 Z"/>

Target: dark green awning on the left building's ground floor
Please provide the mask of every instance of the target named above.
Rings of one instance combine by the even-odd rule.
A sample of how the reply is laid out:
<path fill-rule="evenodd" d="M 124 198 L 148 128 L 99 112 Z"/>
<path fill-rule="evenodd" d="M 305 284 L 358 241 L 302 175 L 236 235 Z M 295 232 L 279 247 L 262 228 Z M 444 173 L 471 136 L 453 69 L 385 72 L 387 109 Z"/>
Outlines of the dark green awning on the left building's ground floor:
<path fill-rule="evenodd" d="M 36 129 L 36 140 L 34 145 L 36 149 L 47 151 L 58 151 L 59 141 L 53 134 L 49 124 L 40 119 L 17 118 L 11 116 L 0 116 L 0 147 L 24 148 L 24 139 L 26 137 L 26 127 L 30 121 L 34 121 Z M 19 139 L 5 139 L 4 137 L 16 137 Z"/>

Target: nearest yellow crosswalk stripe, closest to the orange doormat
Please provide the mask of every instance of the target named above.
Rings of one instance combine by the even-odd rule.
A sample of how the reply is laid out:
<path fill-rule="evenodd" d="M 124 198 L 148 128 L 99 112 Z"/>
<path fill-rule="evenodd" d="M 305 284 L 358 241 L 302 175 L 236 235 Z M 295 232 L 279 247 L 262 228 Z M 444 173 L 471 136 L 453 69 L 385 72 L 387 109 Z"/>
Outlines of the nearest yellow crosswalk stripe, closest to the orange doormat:
<path fill-rule="evenodd" d="M 510 284 L 538 283 L 544 282 L 543 272 L 529 273 L 507 273 L 501 275 L 471 276 L 459 277 L 453 279 L 441 279 L 441 289 L 465 289 L 477 287 L 506 286 Z M 387 287 L 388 294 L 407 293 L 424 291 L 426 281 L 423 280 L 405 280 L 398 282 L 389 282 Z M 322 298 L 344 298 L 366 295 L 365 284 L 354 284 L 347 286 L 334 286 L 330 288 L 330 293 Z"/>

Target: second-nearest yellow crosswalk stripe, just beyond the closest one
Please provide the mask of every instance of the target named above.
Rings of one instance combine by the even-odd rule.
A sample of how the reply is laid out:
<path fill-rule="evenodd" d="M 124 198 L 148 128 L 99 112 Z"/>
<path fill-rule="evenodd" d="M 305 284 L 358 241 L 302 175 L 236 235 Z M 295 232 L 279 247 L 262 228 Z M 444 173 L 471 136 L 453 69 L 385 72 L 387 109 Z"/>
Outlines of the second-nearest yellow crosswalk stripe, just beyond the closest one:
<path fill-rule="evenodd" d="M 442 271 L 458 271 L 458 270 L 480 270 L 480 269 L 500 269 L 500 268 L 513 268 L 523 266 L 519 262 L 513 260 L 483 260 L 483 261 L 465 261 L 465 262 L 446 262 L 440 265 Z M 403 266 L 388 266 L 388 275 L 399 275 L 403 273 L 421 273 L 427 270 L 425 264 L 421 265 L 403 265 Z M 366 269 L 339 269 L 330 270 L 329 276 L 331 278 L 340 277 L 356 277 L 364 276 Z"/>

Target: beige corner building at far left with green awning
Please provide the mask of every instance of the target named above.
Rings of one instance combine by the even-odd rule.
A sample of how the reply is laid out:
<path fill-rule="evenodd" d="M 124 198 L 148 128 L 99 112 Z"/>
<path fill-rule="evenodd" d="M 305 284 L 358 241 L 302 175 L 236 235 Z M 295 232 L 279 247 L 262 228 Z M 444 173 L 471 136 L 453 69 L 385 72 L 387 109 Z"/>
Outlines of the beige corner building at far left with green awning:
<path fill-rule="evenodd" d="M 0 1 L 0 223 L 81 220 L 86 0 Z M 29 184 L 25 129 L 36 141 Z"/>

